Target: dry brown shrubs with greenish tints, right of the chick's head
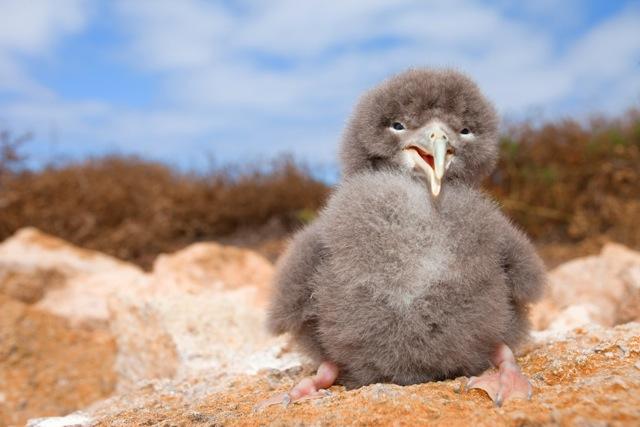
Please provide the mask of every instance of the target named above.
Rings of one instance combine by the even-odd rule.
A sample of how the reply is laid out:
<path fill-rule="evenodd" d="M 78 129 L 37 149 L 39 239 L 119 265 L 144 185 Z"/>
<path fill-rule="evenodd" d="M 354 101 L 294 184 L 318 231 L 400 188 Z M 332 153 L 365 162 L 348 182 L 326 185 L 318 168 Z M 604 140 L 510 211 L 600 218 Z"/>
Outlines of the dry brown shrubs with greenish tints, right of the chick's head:
<path fill-rule="evenodd" d="M 640 112 L 507 134 L 487 187 L 534 239 L 640 248 Z"/>

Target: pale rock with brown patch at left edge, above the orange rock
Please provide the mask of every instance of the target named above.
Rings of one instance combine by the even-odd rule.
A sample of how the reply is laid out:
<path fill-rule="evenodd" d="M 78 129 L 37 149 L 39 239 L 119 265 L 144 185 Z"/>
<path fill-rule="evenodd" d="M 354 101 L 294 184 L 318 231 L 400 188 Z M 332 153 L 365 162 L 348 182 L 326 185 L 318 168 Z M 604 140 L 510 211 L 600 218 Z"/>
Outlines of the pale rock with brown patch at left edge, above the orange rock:
<path fill-rule="evenodd" d="M 74 326 L 107 328 L 109 297 L 144 294 L 149 280 L 129 263 L 78 248 L 35 228 L 23 228 L 0 244 L 4 283 L 10 296 L 64 317 Z M 12 286 L 13 283 L 13 286 Z"/>

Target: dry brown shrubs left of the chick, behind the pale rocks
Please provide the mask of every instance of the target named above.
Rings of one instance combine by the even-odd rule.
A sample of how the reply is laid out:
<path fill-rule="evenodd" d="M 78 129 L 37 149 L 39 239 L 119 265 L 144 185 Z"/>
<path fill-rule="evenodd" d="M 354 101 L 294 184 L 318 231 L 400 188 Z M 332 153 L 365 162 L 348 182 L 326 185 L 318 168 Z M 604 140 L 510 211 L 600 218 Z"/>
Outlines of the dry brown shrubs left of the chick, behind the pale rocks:
<path fill-rule="evenodd" d="M 177 173 L 131 157 L 22 172 L 0 189 L 0 240 L 34 226 L 148 267 L 161 252 L 276 223 L 290 231 L 328 187 L 290 159 L 266 170 Z"/>

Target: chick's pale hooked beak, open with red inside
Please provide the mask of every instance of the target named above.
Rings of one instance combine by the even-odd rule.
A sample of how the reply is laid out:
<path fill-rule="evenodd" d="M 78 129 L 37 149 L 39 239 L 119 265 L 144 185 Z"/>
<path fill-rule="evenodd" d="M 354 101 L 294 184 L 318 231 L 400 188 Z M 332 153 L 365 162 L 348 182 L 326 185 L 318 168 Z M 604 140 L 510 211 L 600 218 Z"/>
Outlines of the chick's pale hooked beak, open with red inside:
<path fill-rule="evenodd" d="M 429 181 L 431 194 L 437 197 L 442 187 L 442 177 L 451 165 L 454 150 L 446 132 L 438 125 L 426 129 L 424 138 L 405 147 L 415 166 L 421 169 Z"/>

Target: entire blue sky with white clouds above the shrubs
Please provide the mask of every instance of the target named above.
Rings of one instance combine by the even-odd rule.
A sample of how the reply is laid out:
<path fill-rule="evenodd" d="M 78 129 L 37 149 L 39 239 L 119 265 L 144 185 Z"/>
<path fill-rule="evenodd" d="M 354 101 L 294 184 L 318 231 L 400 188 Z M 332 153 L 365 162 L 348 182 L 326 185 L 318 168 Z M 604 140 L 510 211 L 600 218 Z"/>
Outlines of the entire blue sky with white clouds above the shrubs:
<path fill-rule="evenodd" d="M 640 104 L 640 1 L 0 0 L 0 127 L 32 165 L 331 169 L 358 96 L 410 66 L 474 77 L 506 120 Z"/>

